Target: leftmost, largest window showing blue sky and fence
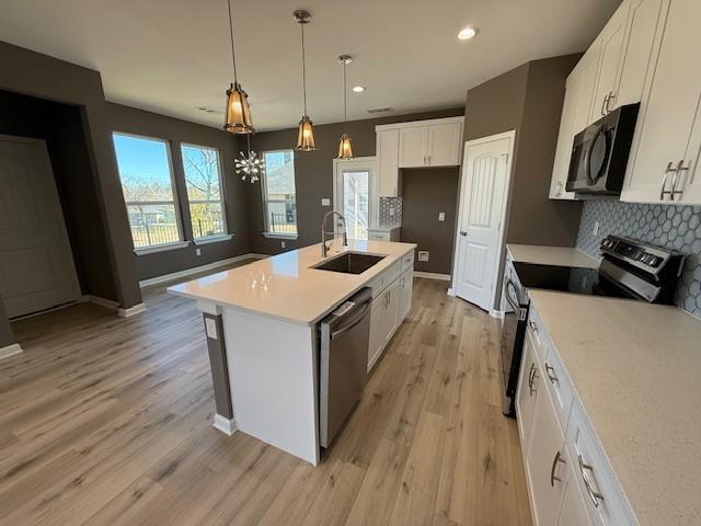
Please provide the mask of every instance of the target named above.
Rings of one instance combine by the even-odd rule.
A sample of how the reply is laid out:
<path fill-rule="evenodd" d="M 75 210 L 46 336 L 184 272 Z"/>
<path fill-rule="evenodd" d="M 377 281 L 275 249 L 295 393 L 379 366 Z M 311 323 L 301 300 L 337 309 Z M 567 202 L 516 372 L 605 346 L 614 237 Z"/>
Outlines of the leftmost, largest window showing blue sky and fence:
<path fill-rule="evenodd" d="M 124 134 L 113 140 L 134 247 L 182 241 L 168 142 Z"/>

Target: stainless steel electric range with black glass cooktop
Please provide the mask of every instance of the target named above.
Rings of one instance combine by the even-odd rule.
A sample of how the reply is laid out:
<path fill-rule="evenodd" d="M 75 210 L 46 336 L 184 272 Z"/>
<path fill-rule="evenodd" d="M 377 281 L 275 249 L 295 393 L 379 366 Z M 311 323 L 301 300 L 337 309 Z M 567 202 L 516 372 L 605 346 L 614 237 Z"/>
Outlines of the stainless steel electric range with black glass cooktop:
<path fill-rule="evenodd" d="M 541 265 L 508 261 L 504 272 L 502 309 L 502 371 L 504 414 L 515 416 L 514 397 L 521 364 L 528 289 L 542 288 L 636 299 L 651 304 L 674 302 L 683 255 L 631 239 L 608 236 L 601 241 L 598 268 Z M 593 328 L 596 330 L 596 328 Z"/>

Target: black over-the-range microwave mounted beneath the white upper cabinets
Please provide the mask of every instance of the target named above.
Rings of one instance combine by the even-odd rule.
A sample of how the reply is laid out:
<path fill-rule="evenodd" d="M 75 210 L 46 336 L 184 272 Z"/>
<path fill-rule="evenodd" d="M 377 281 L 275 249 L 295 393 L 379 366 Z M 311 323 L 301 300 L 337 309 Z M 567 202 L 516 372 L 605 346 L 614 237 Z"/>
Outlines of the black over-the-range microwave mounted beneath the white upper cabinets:
<path fill-rule="evenodd" d="M 567 192 L 621 193 L 639 108 L 639 103 L 617 107 L 575 135 Z"/>

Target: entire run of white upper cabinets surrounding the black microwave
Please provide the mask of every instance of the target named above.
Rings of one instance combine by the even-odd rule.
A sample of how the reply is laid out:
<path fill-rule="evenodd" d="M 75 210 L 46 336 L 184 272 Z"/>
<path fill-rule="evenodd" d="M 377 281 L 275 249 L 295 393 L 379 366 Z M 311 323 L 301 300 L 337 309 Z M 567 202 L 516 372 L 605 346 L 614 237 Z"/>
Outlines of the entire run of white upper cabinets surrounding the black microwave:
<path fill-rule="evenodd" d="M 621 201 L 701 204 L 701 2 L 624 0 L 567 78 L 550 197 L 565 191 L 574 136 L 640 103 Z"/>

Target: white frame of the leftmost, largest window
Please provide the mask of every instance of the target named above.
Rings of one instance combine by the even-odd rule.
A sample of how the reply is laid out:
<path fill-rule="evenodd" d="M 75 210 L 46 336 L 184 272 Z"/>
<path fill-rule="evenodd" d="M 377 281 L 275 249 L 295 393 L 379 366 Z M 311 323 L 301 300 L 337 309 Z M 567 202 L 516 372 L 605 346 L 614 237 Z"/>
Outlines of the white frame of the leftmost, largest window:
<path fill-rule="evenodd" d="M 165 146 L 165 159 L 168 160 L 168 171 L 170 174 L 170 180 L 171 180 L 171 195 L 173 197 L 172 204 L 173 204 L 173 209 L 174 209 L 174 215 L 175 215 L 175 226 L 177 227 L 177 240 L 176 241 L 169 241 L 166 243 L 156 243 L 156 244 L 148 244 L 148 245 L 143 245 L 143 247 L 136 247 L 135 241 L 134 241 L 134 232 L 131 231 L 131 222 L 129 220 L 129 205 L 145 205 L 145 206 L 153 206 L 153 205 L 162 205 L 162 204 L 170 204 L 171 202 L 169 201 L 131 201 L 131 202 L 127 202 L 126 196 L 124 195 L 124 187 L 123 187 L 123 182 L 122 182 L 122 172 L 119 170 L 119 156 L 117 153 L 117 147 L 115 145 L 114 138 L 115 136 L 122 136 L 122 137 L 130 137 L 133 139 L 140 139 L 140 140 L 150 140 L 153 142 L 161 142 Z M 182 218 L 182 214 L 181 214 L 181 208 L 180 208 L 180 196 L 177 194 L 177 184 L 175 182 L 175 171 L 173 170 L 173 149 L 171 146 L 171 141 L 168 139 L 162 139 L 160 137 L 151 137 L 148 135 L 140 135 L 140 134 L 131 134 L 128 132 L 119 132 L 116 129 L 112 130 L 112 147 L 114 149 L 114 158 L 115 158 L 115 162 L 116 162 L 116 168 L 117 168 L 117 176 L 119 178 L 119 188 L 122 190 L 122 199 L 124 201 L 124 209 L 127 214 L 127 221 L 129 222 L 129 235 L 131 236 L 131 244 L 134 247 L 134 252 L 136 254 L 148 254 L 151 252 L 161 252 L 164 250 L 170 250 L 170 249 L 180 249 L 183 247 L 187 247 L 189 244 L 189 241 L 185 239 L 185 233 L 183 231 L 183 218 Z"/>

